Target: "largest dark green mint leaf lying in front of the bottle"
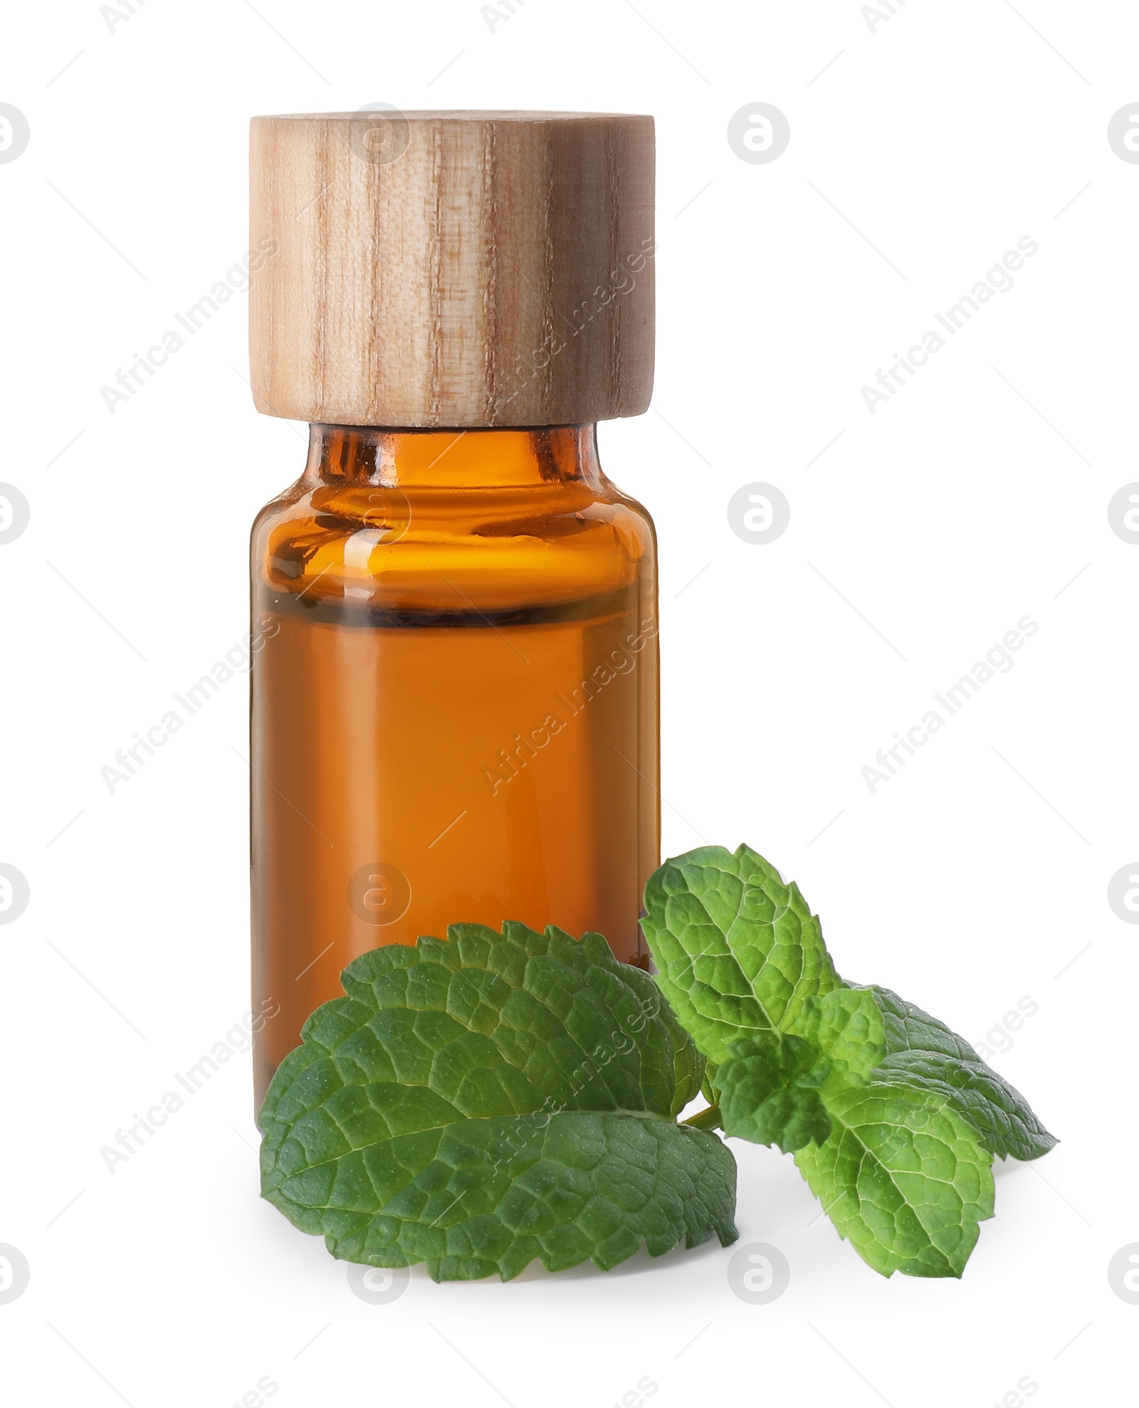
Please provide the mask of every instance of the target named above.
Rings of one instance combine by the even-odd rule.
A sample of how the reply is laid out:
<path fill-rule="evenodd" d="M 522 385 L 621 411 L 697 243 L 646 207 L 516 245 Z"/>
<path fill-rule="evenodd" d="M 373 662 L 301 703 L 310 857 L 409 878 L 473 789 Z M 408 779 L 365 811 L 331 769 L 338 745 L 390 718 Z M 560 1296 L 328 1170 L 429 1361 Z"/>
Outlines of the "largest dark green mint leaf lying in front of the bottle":
<path fill-rule="evenodd" d="M 508 1280 L 736 1238 L 731 1153 L 674 1124 L 704 1062 L 600 935 L 455 925 L 342 981 L 259 1117 L 262 1195 L 334 1256 Z"/>

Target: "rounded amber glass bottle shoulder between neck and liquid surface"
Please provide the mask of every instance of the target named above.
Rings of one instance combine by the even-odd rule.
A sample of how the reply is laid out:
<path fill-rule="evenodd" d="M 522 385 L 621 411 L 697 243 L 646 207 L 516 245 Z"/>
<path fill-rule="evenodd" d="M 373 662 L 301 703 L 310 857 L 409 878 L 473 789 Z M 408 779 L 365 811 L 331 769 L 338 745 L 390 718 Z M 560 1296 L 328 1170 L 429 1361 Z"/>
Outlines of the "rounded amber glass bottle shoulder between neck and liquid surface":
<path fill-rule="evenodd" d="M 497 611 L 643 587 L 655 580 L 652 518 L 598 480 L 298 480 L 253 522 L 253 577 L 273 594 L 396 611 Z"/>

